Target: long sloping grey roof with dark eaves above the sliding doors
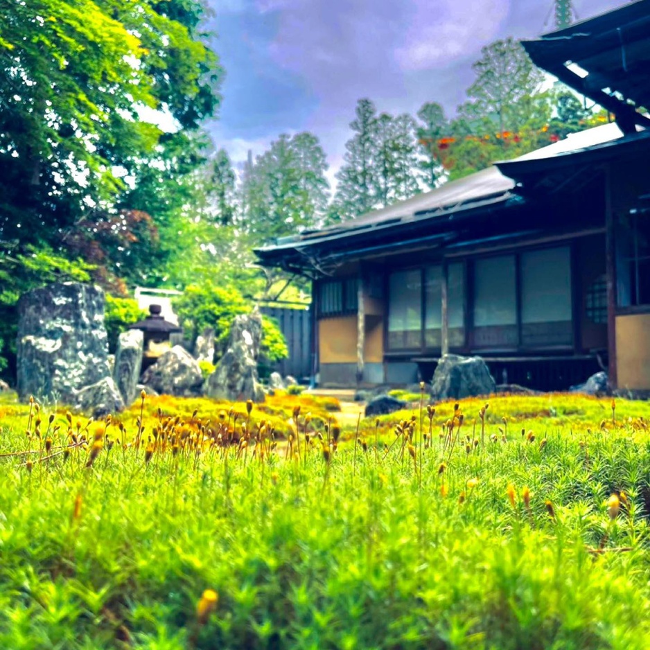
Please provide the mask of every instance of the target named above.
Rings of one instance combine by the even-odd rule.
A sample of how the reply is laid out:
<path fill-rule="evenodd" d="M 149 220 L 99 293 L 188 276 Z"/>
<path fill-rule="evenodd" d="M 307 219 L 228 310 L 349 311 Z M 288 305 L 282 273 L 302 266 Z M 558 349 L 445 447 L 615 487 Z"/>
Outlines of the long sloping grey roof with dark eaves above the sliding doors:
<path fill-rule="evenodd" d="M 377 249 L 410 247 L 423 242 L 426 229 L 430 231 L 426 235 L 430 245 L 443 245 L 448 238 L 443 231 L 457 227 L 461 219 L 520 206 L 525 197 L 539 191 L 554 191 L 556 186 L 572 182 L 579 175 L 592 177 L 595 163 L 620 155 L 624 148 L 647 152 L 650 130 L 625 134 L 620 125 L 608 123 L 570 134 L 549 146 L 495 163 L 340 225 L 281 238 L 255 253 L 264 265 L 301 272 L 310 268 L 316 258 L 333 261 L 350 254 L 374 253 Z"/>

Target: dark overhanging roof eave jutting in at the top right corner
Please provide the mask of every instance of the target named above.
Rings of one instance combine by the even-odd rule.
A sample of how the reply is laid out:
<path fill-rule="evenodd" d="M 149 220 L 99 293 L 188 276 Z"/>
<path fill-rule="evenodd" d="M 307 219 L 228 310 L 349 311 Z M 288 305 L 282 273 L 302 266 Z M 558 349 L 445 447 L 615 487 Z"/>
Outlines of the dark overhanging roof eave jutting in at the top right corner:
<path fill-rule="evenodd" d="M 635 110 L 650 109 L 650 0 L 522 45 L 536 65 L 615 113 L 625 132 L 633 132 L 635 124 L 650 125 Z"/>

